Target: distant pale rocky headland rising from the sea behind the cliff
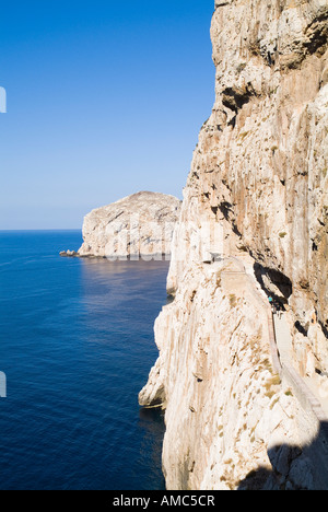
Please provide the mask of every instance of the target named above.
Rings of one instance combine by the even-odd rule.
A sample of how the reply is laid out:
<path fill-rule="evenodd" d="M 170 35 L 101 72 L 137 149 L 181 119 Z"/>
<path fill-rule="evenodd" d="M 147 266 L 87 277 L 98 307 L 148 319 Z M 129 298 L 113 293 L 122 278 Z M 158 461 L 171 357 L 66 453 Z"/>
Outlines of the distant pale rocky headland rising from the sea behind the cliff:
<path fill-rule="evenodd" d="M 93 210 L 84 218 L 84 243 L 78 255 L 113 259 L 168 256 L 179 211 L 179 199 L 150 191 Z"/>

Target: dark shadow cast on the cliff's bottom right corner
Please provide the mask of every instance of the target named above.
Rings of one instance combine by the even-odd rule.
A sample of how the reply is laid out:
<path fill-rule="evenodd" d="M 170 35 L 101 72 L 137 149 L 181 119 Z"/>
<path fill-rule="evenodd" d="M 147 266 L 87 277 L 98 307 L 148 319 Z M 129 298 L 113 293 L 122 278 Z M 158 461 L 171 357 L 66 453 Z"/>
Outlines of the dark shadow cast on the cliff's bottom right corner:
<path fill-rule="evenodd" d="M 268 456 L 272 470 L 250 472 L 237 490 L 328 490 L 328 422 L 309 445 L 277 445 Z"/>

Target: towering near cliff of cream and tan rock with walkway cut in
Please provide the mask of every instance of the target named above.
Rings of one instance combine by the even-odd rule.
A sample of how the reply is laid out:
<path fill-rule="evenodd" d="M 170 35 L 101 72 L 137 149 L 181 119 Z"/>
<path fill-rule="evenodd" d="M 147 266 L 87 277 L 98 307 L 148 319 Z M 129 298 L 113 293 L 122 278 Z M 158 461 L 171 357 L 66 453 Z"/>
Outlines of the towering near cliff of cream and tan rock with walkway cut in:
<path fill-rule="evenodd" d="M 139 396 L 166 409 L 168 489 L 328 488 L 326 424 L 274 366 L 259 299 L 285 310 L 293 370 L 327 385 L 327 35 L 326 0 L 215 2 L 216 98 Z"/>

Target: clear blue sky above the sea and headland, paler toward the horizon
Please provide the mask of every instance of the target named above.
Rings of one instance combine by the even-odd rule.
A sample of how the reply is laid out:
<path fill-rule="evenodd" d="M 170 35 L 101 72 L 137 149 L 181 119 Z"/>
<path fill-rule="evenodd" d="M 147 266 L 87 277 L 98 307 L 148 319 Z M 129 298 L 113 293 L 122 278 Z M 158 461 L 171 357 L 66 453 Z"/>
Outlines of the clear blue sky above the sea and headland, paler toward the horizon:
<path fill-rule="evenodd" d="M 214 101 L 214 0 L 2 2 L 0 230 L 79 229 L 139 190 L 181 197 Z"/>

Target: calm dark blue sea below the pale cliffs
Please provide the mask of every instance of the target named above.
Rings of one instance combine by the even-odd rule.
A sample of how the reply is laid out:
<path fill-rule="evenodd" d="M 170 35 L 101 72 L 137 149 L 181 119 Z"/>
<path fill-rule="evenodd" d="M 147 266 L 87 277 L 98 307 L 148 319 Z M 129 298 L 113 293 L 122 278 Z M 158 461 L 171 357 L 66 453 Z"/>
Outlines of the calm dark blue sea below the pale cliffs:
<path fill-rule="evenodd" d="M 140 410 L 167 263 L 60 258 L 79 232 L 0 232 L 1 489 L 163 489 Z"/>

